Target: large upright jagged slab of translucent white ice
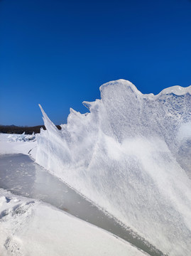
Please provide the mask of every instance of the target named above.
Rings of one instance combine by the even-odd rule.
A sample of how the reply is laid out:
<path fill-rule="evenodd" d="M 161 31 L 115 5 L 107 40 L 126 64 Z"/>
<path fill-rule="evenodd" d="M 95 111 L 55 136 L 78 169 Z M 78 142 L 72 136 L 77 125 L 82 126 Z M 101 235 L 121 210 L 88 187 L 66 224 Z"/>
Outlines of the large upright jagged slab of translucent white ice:
<path fill-rule="evenodd" d="M 129 81 L 70 110 L 43 112 L 36 161 L 168 255 L 191 251 L 191 86 L 143 95 Z"/>

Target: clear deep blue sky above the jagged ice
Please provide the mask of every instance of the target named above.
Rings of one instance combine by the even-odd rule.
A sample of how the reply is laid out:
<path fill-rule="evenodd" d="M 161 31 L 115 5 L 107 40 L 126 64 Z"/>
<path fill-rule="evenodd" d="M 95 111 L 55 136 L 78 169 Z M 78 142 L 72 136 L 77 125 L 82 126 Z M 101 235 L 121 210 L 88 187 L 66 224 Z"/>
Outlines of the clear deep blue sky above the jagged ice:
<path fill-rule="evenodd" d="M 191 1 L 0 1 L 0 124 L 65 123 L 119 78 L 191 85 Z"/>

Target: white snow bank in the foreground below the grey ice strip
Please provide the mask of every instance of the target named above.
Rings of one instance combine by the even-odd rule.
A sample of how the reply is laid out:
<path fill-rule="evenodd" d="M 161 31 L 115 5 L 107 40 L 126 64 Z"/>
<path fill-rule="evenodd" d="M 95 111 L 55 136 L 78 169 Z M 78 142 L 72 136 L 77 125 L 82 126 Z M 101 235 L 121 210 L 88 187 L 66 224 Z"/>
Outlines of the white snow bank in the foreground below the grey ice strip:
<path fill-rule="evenodd" d="M 0 255 L 147 254 L 62 210 L 0 189 Z"/>

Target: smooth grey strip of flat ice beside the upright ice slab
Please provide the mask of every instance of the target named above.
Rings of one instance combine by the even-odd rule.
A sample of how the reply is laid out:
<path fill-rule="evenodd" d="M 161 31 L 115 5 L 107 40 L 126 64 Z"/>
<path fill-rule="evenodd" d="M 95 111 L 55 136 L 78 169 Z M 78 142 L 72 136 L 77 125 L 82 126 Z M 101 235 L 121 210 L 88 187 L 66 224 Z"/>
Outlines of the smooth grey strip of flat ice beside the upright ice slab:
<path fill-rule="evenodd" d="M 0 187 L 19 196 L 35 198 L 65 210 L 131 242 L 149 255 L 163 255 L 146 240 L 120 225 L 114 218 L 87 201 L 79 193 L 48 173 L 24 154 L 0 156 Z"/>

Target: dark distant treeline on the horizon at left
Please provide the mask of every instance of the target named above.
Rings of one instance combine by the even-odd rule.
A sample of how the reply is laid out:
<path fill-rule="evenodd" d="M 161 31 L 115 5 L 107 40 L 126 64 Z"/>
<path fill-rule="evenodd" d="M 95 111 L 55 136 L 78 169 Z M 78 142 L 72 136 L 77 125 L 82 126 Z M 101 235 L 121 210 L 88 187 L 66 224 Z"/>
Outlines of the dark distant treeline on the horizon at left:
<path fill-rule="evenodd" d="M 36 127 L 17 127 L 15 125 L 0 125 L 0 133 L 7 133 L 7 134 L 22 134 L 25 132 L 26 134 L 39 133 L 40 128 L 44 125 L 38 125 Z M 56 125 L 58 129 L 61 129 L 60 125 Z"/>

